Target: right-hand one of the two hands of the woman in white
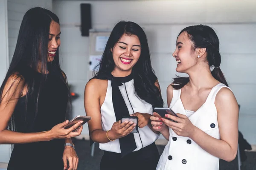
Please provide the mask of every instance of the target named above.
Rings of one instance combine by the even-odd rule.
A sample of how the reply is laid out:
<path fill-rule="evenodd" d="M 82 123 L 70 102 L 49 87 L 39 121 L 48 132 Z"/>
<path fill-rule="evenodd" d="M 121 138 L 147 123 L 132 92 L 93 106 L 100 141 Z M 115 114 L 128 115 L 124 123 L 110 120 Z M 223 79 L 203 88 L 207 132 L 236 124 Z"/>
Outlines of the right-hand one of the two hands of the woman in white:
<path fill-rule="evenodd" d="M 186 136 L 190 137 L 192 136 L 194 132 L 194 125 L 190 122 L 189 118 L 186 115 L 177 113 L 177 116 L 173 116 L 171 114 L 165 115 L 167 118 L 172 119 L 176 122 L 172 122 L 168 119 L 163 119 L 163 122 L 172 128 L 172 130 L 178 135 L 178 136 Z"/>

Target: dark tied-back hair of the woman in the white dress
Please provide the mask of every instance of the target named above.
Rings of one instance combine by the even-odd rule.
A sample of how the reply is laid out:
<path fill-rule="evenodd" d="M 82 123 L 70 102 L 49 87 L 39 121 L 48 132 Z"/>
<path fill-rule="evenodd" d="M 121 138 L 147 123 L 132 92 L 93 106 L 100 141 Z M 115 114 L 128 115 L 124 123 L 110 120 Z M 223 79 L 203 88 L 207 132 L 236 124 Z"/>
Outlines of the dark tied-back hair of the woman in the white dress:
<path fill-rule="evenodd" d="M 209 67 L 213 67 L 212 76 L 219 82 L 227 85 L 227 81 L 221 71 L 221 54 L 219 52 L 219 40 L 215 31 L 204 25 L 189 26 L 180 31 L 180 34 L 186 32 L 192 41 L 192 50 L 196 48 L 206 48 L 207 62 Z M 180 35 L 179 34 L 179 35 Z M 178 35 L 178 37 L 179 37 Z M 189 77 L 175 77 L 172 87 L 180 89 L 189 82 Z M 227 85 L 228 86 L 228 85 Z"/>

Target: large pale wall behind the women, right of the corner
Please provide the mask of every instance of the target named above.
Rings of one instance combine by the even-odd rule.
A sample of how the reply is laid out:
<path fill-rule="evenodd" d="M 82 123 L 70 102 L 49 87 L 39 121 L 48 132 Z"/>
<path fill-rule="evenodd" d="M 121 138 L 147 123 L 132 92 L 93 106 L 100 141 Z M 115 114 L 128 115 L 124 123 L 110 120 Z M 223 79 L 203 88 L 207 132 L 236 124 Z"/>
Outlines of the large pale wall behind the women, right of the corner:
<path fill-rule="evenodd" d="M 131 20 L 144 28 L 165 102 L 166 88 L 176 74 L 172 52 L 177 34 L 194 24 L 212 26 L 220 39 L 221 69 L 241 105 L 239 130 L 247 141 L 256 144 L 255 0 L 54 0 L 53 11 L 61 22 L 62 68 L 80 95 L 73 102 L 74 115 L 85 114 L 83 94 L 89 54 L 89 39 L 81 37 L 77 27 L 80 3 L 91 3 L 95 29 L 112 29 L 119 20 Z M 87 133 L 86 128 L 83 133 Z"/>

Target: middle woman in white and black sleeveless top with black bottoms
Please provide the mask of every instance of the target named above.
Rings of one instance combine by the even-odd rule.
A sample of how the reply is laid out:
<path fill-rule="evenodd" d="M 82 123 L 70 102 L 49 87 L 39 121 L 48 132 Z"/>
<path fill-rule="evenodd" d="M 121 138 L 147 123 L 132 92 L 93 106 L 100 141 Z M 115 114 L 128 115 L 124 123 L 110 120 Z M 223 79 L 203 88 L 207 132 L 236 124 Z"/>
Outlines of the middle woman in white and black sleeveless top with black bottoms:
<path fill-rule="evenodd" d="M 155 170 L 159 153 L 151 130 L 154 107 L 163 107 L 159 83 L 151 68 L 148 42 L 143 29 L 133 22 L 116 24 L 106 44 L 99 72 L 84 92 L 84 107 L 91 142 L 105 150 L 101 170 Z M 138 117 L 133 122 L 122 116 Z"/>

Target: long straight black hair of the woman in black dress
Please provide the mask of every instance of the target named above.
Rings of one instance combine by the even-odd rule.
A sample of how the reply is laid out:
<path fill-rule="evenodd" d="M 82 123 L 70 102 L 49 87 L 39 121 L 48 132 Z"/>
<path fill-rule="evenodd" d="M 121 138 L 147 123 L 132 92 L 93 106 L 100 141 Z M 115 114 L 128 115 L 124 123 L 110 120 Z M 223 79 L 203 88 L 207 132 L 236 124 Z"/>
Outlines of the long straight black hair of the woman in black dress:
<path fill-rule="evenodd" d="M 20 74 L 20 71 L 22 71 L 26 67 L 31 67 L 34 71 L 38 71 L 39 69 L 39 72 L 41 73 L 46 73 L 47 71 L 52 72 L 63 80 L 68 89 L 66 75 L 61 70 L 59 64 L 58 49 L 56 51 L 54 60 L 52 62 L 47 62 L 49 28 L 50 23 L 52 21 L 55 21 L 56 23 L 59 24 L 59 19 L 57 15 L 55 15 L 54 13 L 45 8 L 31 8 L 24 14 L 23 20 L 20 25 L 15 52 L 12 57 L 12 62 L 9 66 L 3 84 L 0 87 L 1 103 L 3 97 L 7 94 L 3 94 L 3 88 L 5 87 L 6 82 L 8 82 L 8 79 L 12 78 L 13 82 L 9 90 L 12 88 L 14 83 L 15 86 L 17 84 L 23 85 L 23 88 L 25 85 L 27 85 L 26 106 L 28 103 L 29 96 L 37 96 L 35 99 L 36 111 L 34 117 L 36 117 L 36 114 L 38 112 L 37 109 L 38 98 L 40 95 L 39 92 L 41 91 L 41 88 L 44 85 L 44 82 L 46 81 L 47 74 L 42 74 L 39 83 L 39 90 L 35 91 L 36 80 L 32 79 L 27 81 L 23 77 L 23 75 Z M 67 95 L 70 98 L 69 90 Z M 15 130 L 14 115 L 12 115 L 12 118 L 9 122 L 9 129 Z"/>

